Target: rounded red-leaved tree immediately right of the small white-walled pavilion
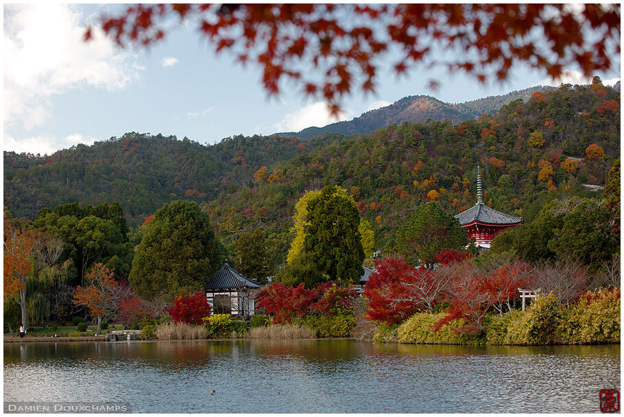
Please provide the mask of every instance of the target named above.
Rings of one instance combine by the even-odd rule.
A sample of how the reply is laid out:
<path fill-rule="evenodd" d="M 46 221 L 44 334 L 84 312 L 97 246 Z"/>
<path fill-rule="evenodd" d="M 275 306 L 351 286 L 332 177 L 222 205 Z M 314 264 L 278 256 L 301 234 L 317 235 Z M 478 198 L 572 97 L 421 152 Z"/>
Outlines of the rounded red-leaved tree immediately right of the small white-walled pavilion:
<path fill-rule="evenodd" d="M 260 291 L 256 300 L 267 313 L 273 314 L 275 323 L 289 323 L 293 317 L 302 317 L 309 313 L 318 292 L 317 288 L 305 289 L 304 283 L 297 287 L 272 283 Z"/>

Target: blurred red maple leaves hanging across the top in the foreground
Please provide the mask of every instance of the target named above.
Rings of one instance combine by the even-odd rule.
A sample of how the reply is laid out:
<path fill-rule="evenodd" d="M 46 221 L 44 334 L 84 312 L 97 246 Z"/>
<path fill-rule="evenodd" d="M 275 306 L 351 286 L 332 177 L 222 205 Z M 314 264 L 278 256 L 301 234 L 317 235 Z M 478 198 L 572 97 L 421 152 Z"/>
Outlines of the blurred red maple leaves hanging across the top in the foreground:
<path fill-rule="evenodd" d="M 584 75 L 610 69 L 620 51 L 620 5 L 564 4 L 157 4 L 134 5 L 119 16 L 102 13 L 101 27 L 119 45 L 149 47 L 165 38 L 169 21 L 197 25 L 215 53 L 229 51 L 262 69 L 269 95 L 293 80 L 323 97 L 333 114 L 355 85 L 372 92 L 389 50 L 397 74 L 417 64 L 463 71 L 485 83 L 505 80 L 514 65 L 565 67 Z M 348 19 L 345 19 L 348 16 Z M 88 27 L 84 38 L 91 39 Z M 538 47 L 539 45 L 539 47 Z M 435 55 L 451 49 L 456 60 Z M 430 80 L 430 85 L 435 85 Z"/>

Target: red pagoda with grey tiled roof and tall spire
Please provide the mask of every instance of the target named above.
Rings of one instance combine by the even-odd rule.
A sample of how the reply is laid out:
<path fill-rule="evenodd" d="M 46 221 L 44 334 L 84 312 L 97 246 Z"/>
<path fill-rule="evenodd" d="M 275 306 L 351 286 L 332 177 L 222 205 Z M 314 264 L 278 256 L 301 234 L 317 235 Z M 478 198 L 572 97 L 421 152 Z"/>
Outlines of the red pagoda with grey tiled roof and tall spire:
<path fill-rule="evenodd" d="M 512 226 L 522 223 L 522 217 L 514 217 L 494 210 L 481 201 L 481 170 L 477 167 L 477 204 L 462 211 L 455 218 L 461 227 L 465 227 L 468 235 L 475 238 L 475 245 L 481 248 L 490 248 L 490 243 L 496 235 Z"/>

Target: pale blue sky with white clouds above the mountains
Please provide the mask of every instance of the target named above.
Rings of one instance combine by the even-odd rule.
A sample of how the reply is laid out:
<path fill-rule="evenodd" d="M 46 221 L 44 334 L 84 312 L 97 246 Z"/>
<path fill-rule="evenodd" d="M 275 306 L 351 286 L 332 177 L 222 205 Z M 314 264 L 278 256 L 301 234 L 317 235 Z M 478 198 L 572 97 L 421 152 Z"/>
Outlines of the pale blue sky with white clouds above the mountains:
<path fill-rule="evenodd" d="M 323 102 L 285 84 L 268 97 L 258 67 L 241 67 L 228 53 L 215 56 L 195 27 L 176 27 L 148 50 L 121 49 L 100 32 L 83 42 L 86 22 L 121 5 L 3 4 L 3 134 L 5 151 L 52 154 L 78 143 L 91 145 L 125 132 L 185 136 L 202 144 L 237 134 L 272 134 L 333 123 Z M 618 68 L 599 73 L 614 84 Z M 587 84 L 574 69 L 560 80 L 527 68 L 502 84 L 465 75 L 416 69 L 397 77 L 381 69 L 376 93 L 343 102 L 340 120 L 396 102 L 431 95 L 465 102 L 538 84 Z"/>

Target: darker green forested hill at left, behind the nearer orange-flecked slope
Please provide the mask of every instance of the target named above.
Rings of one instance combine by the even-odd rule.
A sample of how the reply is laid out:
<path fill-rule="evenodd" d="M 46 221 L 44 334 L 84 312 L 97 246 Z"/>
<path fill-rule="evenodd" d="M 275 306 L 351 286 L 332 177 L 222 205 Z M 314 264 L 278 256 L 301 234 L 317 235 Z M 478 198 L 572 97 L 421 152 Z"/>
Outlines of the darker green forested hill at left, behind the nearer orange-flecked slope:
<path fill-rule="evenodd" d="M 67 202 L 117 201 L 130 224 L 179 198 L 211 200 L 230 184 L 253 180 L 262 165 L 280 163 L 333 138 L 234 136 L 204 146 L 161 134 L 126 133 L 77 145 L 51 156 L 4 152 L 5 206 L 34 218 L 43 207 Z"/>

